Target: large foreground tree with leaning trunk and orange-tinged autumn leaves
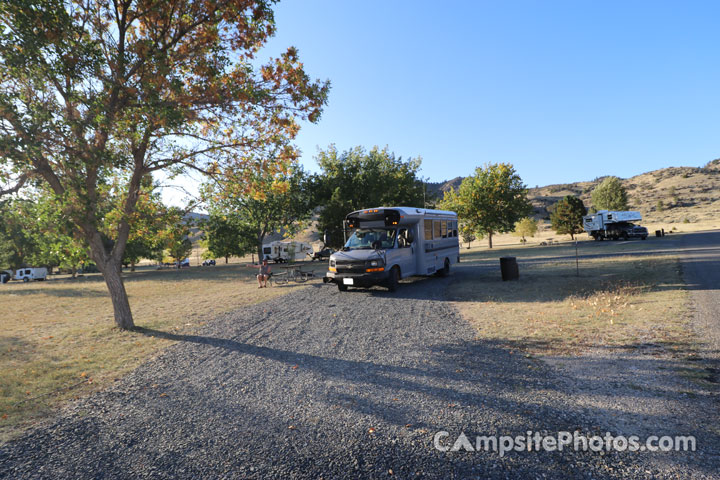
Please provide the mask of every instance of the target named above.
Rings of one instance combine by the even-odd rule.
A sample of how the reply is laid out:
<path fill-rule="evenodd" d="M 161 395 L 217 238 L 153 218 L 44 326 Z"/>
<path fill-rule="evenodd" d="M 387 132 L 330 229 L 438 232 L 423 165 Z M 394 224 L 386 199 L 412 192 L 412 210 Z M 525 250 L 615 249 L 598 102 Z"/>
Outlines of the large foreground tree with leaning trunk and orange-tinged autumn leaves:
<path fill-rule="evenodd" d="M 222 177 L 248 152 L 317 121 L 329 84 L 289 48 L 258 67 L 272 0 L 0 2 L 0 193 L 48 186 L 134 326 L 121 277 L 142 179 L 187 169 Z M 121 178 L 109 191 L 110 178 Z M 102 233 L 104 195 L 122 198 Z"/>

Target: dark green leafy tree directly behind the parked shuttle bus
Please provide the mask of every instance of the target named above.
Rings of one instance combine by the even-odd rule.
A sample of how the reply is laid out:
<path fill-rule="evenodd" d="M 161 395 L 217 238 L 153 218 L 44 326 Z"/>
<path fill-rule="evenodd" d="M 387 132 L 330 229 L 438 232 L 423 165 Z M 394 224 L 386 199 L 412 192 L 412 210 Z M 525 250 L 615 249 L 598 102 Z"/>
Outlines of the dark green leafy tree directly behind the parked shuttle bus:
<path fill-rule="evenodd" d="M 380 206 L 423 207 L 423 182 L 418 177 L 422 160 L 396 157 L 387 147 L 362 147 L 338 152 L 334 145 L 318 152 L 320 231 L 330 245 L 343 241 L 343 220 L 353 210 Z"/>

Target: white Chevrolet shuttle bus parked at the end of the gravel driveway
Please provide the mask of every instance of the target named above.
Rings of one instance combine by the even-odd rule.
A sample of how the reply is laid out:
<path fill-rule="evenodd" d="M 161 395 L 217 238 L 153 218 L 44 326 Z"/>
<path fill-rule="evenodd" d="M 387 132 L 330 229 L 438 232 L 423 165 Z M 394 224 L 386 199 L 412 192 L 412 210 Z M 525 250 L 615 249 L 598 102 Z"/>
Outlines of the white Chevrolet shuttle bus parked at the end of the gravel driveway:
<path fill-rule="evenodd" d="M 460 261 L 455 212 L 414 207 L 357 210 L 345 217 L 351 233 L 341 251 L 330 256 L 325 282 L 348 287 L 385 285 L 397 289 L 401 278 L 446 276 Z"/>

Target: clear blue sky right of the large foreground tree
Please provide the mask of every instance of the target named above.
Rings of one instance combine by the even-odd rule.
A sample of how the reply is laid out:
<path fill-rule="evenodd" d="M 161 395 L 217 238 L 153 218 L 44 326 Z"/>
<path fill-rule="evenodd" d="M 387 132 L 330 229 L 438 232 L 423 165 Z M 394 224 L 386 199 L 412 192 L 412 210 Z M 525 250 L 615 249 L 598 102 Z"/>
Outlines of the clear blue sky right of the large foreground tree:
<path fill-rule="evenodd" d="M 487 162 L 530 186 L 720 157 L 720 2 L 320 1 L 276 6 L 262 56 L 294 45 L 332 82 L 297 144 L 385 146 L 431 181 Z"/>

